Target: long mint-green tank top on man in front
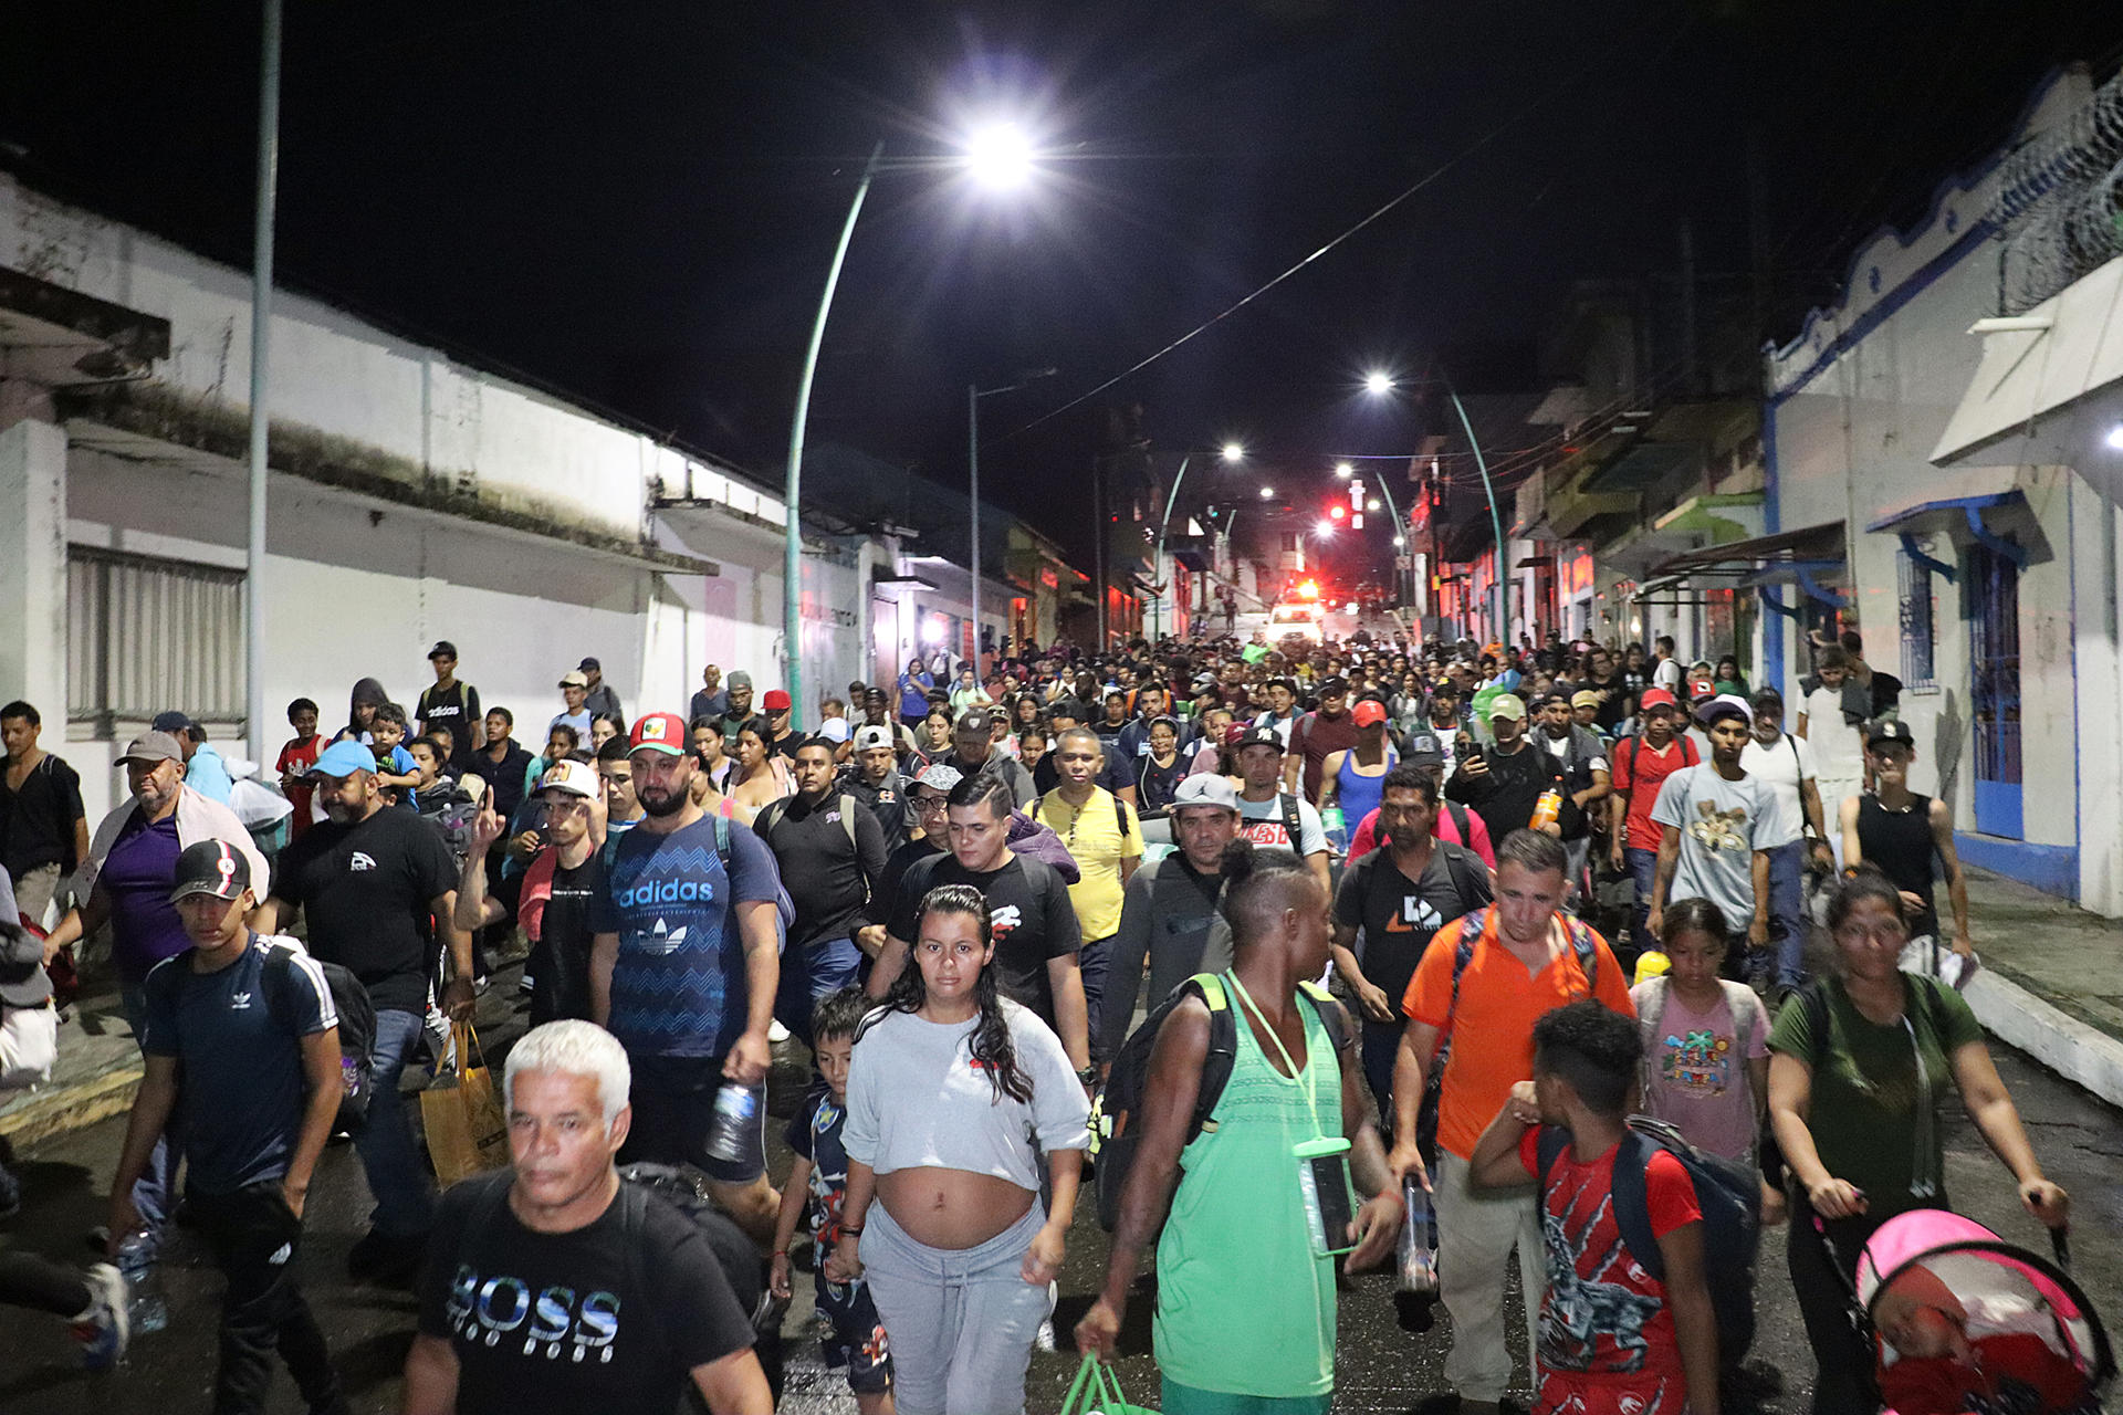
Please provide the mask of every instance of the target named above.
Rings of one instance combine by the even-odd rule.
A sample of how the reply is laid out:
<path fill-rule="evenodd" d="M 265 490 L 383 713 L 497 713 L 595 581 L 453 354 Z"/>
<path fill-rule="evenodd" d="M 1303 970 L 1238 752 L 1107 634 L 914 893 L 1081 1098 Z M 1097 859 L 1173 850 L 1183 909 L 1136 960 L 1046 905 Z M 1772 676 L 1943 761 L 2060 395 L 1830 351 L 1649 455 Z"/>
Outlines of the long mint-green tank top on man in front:
<path fill-rule="evenodd" d="M 1325 1396 L 1333 1258 L 1312 1252 L 1295 1150 L 1318 1135 L 1314 1107 L 1342 1133 L 1342 1069 L 1318 1012 L 1299 1001 L 1306 1061 L 1297 1078 L 1282 1076 L 1261 1052 L 1231 974 L 1223 986 L 1238 1050 L 1216 1129 L 1180 1150 L 1183 1175 L 1157 1239 L 1157 1366 L 1195 1390 Z"/>

